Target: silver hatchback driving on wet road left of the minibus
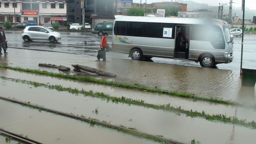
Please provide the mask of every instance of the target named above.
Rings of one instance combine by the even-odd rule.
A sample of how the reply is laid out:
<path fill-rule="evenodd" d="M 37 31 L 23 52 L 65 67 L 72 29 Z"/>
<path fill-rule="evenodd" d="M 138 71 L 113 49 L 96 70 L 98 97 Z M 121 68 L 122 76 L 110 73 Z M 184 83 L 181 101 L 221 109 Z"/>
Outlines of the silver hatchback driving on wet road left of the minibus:
<path fill-rule="evenodd" d="M 22 31 L 22 39 L 25 42 L 30 40 L 49 40 L 55 42 L 61 39 L 61 34 L 43 26 L 27 26 Z"/>

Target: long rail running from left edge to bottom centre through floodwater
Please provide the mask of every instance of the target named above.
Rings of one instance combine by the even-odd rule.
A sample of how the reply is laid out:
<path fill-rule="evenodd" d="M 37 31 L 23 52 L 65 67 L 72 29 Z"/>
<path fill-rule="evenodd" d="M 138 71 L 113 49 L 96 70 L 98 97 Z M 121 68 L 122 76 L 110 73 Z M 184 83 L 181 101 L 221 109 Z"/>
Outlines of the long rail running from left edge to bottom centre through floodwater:
<path fill-rule="evenodd" d="M 137 131 L 137 130 L 125 128 L 125 127 L 122 127 L 122 126 L 112 125 L 112 124 L 101 122 L 101 121 L 98 121 L 98 120 L 95 120 L 95 119 L 85 118 L 85 117 L 82 117 L 82 116 L 69 114 L 69 113 L 65 113 L 65 112 L 45 108 L 45 107 L 42 107 L 42 106 L 21 102 L 21 101 L 15 100 L 15 99 L 9 99 L 9 98 L 5 98 L 5 97 L 1 97 L 1 96 L 0 96 L 0 99 L 5 100 L 5 101 L 10 101 L 10 102 L 13 102 L 13 103 L 17 103 L 17 104 L 21 104 L 23 106 L 28 106 L 28 107 L 31 107 L 31 108 L 43 110 L 43 111 L 46 111 L 46 112 L 66 116 L 66 117 L 69 117 L 69 118 L 85 121 L 85 122 L 88 122 L 88 123 L 91 123 L 91 124 L 97 124 L 97 125 L 101 125 L 103 127 L 112 128 L 112 129 L 115 129 L 115 130 L 118 130 L 118 131 L 122 131 L 124 133 L 132 134 L 132 135 L 135 135 L 135 136 L 138 136 L 138 137 L 150 139 L 150 140 L 157 141 L 157 142 L 162 142 L 162 143 L 167 142 L 167 143 L 170 143 L 170 144 L 186 144 L 186 143 L 179 142 L 179 141 L 176 141 L 176 140 L 173 140 L 173 139 L 164 138 L 162 136 L 152 135 L 152 134 L 140 132 L 140 131 Z"/>

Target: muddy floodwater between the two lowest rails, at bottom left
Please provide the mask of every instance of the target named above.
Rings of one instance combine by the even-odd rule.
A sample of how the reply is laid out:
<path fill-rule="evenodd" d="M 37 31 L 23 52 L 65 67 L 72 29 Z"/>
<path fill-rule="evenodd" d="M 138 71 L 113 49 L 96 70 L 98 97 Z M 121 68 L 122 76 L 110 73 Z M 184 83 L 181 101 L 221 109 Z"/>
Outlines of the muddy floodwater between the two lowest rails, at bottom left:
<path fill-rule="evenodd" d="M 46 144 L 153 144 L 155 142 L 79 120 L 0 100 L 0 127 Z"/>

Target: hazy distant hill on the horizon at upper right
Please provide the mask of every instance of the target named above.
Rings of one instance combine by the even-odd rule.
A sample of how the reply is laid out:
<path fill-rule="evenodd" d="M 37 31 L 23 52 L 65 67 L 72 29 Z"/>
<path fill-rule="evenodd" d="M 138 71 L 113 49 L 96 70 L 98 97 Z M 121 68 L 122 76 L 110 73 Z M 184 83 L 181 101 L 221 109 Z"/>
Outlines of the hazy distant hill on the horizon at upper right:
<path fill-rule="evenodd" d="M 208 9 L 209 11 L 213 11 L 218 13 L 219 7 L 218 6 L 209 6 L 205 3 L 196 3 L 190 0 L 178 0 L 180 3 L 187 4 L 187 10 L 197 10 L 197 9 Z M 243 18 L 243 11 L 241 7 L 232 8 L 232 16 L 239 16 L 241 19 Z M 228 5 L 223 6 L 223 13 L 228 13 L 229 8 Z M 256 10 L 250 10 L 248 7 L 245 8 L 245 19 L 252 19 L 253 16 L 256 16 Z"/>

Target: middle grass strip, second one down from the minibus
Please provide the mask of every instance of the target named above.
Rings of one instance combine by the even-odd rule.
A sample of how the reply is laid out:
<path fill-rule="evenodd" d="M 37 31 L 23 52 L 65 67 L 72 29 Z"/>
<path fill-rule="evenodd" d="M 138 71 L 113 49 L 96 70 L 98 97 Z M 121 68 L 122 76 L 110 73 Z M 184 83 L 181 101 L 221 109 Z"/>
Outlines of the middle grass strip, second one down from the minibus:
<path fill-rule="evenodd" d="M 168 104 L 159 104 L 159 105 L 155 105 L 155 104 L 148 104 L 145 103 L 144 100 L 134 100 L 131 98 L 126 98 L 124 96 L 122 97 L 115 97 L 115 96 L 110 96 L 108 94 L 105 94 L 103 92 L 93 92 L 92 90 L 90 91 L 85 91 L 84 89 L 82 90 L 78 90 L 77 88 L 71 88 L 71 87 L 63 87 L 62 85 L 49 85 L 49 84 L 44 84 L 44 83 L 38 83 L 38 82 L 33 82 L 33 81 L 27 81 L 27 80 L 19 80 L 16 79 L 16 82 L 21 82 L 21 83 L 26 83 L 26 84 L 30 84 L 33 85 L 35 87 L 38 86 L 43 86 L 43 87 L 47 87 L 49 89 L 56 89 L 58 91 L 67 91 L 69 93 L 72 94 L 83 94 L 86 96 L 92 96 L 92 97 L 97 97 L 97 98 L 101 98 L 101 99 L 106 99 L 106 100 L 111 100 L 114 103 L 126 103 L 126 104 L 133 104 L 133 105 L 137 105 L 137 106 L 144 106 L 147 108 L 153 108 L 153 109 L 161 109 L 161 110 L 167 110 L 167 111 L 174 111 L 177 112 L 177 115 L 180 115 L 179 113 L 184 113 L 186 114 L 186 116 L 190 116 L 190 117 L 203 117 L 206 120 L 218 120 L 218 121 L 224 121 L 224 122 L 231 122 L 231 123 L 236 123 L 242 126 L 249 126 L 252 128 L 256 128 L 256 121 L 251 121 L 251 122 L 246 122 L 246 119 L 238 119 L 238 117 L 231 117 L 231 116 L 226 116 L 226 114 L 212 114 L 209 115 L 207 114 L 204 110 L 202 112 L 199 112 L 197 110 L 193 111 L 191 110 L 184 110 L 181 108 L 181 106 L 179 107 L 173 107 L 170 105 L 170 103 Z"/>

